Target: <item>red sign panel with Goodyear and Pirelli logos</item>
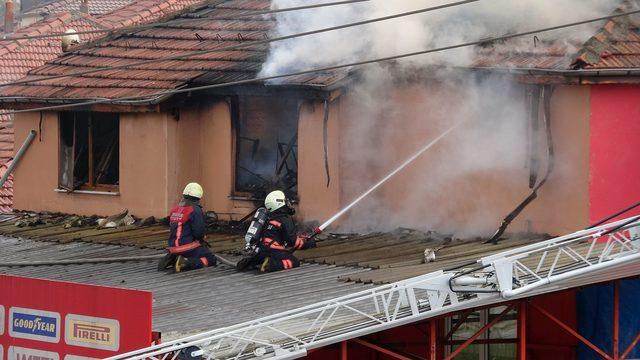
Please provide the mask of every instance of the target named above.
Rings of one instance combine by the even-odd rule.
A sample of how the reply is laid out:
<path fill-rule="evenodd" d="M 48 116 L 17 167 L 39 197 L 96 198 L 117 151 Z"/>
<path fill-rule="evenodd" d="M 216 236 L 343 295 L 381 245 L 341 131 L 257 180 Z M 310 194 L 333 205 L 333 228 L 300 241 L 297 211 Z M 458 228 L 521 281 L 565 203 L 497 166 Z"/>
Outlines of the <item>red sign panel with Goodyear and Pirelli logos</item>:
<path fill-rule="evenodd" d="M 101 359 L 151 345 L 147 291 L 0 275 L 0 360 Z"/>

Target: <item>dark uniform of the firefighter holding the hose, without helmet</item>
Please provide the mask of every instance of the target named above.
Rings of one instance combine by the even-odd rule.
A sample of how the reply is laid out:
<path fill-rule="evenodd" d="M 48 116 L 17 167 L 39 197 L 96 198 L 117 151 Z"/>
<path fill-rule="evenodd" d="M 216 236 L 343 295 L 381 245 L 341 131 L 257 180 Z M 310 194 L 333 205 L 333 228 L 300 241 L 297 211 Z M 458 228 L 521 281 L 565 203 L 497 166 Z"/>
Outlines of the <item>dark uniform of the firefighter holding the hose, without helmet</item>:
<path fill-rule="evenodd" d="M 269 214 L 260 239 L 257 265 L 262 272 L 293 269 L 300 266 L 300 260 L 293 256 L 292 250 L 315 247 L 315 241 L 306 236 L 296 236 L 296 226 L 287 207 Z M 266 262 L 265 262 L 266 260 Z"/>

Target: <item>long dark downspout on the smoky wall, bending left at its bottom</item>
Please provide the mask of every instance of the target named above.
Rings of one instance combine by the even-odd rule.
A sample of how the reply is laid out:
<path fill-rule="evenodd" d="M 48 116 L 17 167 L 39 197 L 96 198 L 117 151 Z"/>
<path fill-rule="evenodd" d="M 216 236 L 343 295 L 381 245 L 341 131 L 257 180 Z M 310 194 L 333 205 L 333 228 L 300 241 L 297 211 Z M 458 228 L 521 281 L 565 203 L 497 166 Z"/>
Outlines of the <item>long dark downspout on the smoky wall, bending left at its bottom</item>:
<path fill-rule="evenodd" d="M 554 157 L 554 149 L 553 149 L 553 137 L 551 134 L 551 94 L 552 92 L 553 90 L 551 86 L 545 85 L 542 87 L 542 101 L 544 104 L 544 126 L 545 126 L 546 138 L 547 138 L 547 157 L 548 157 L 547 172 L 545 173 L 544 178 L 540 180 L 538 185 L 536 185 L 533 188 L 529 196 L 527 196 L 511 213 L 509 213 L 509 215 L 507 215 L 507 217 L 504 218 L 504 220 L 502 220 L 502 224 L 500 225 L 496 233 L 493 235 L 493 237 L 491 237 L 491 239 L 487 240 L 485 243 L 491 243 L 494 245 L 498 243 L 500 236 L 504 234 L 505 230 L 507 230 L 507 227 L 511 224 L 511 222 L 516 217 L 518 217 L 518 215 L 520 215 L 522 210 L 524 210 L 533 200 L 535 200 L 538 197 L 538 190 L 540 190 L 540 188 L 547 182 L 549 175 L 553 171 L 555 157 Z"/>

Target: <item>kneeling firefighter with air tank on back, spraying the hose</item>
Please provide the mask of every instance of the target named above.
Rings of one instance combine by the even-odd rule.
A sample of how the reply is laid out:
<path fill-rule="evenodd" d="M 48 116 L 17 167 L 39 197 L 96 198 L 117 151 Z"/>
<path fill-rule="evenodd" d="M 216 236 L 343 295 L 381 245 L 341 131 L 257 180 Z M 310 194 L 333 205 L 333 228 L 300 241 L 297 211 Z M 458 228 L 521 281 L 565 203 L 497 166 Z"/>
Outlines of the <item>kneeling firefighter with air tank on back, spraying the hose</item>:
<path fill-rule="evenodd" d="M 293 251 L 316 246 L 307 235 L 296 235 L 292 215 L 295 210 L 282 191 L 272 191 L 264 201 L 265 208 L 256 215 L 247 231 L 248 256 L 238 262 L 237 269 L 257 268 L 260 272 L 293 269 L 300 261 Z"/>

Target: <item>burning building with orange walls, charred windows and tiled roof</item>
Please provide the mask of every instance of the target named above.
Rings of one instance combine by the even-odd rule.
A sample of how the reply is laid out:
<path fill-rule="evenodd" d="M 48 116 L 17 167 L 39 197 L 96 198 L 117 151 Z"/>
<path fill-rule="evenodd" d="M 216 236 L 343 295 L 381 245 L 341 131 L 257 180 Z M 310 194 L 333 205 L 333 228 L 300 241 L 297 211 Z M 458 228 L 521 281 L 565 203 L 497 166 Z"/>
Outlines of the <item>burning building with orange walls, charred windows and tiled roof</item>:
<path fill-rule="evenodd" d="M 600 154 L 625 147 L 599 149 L 614 141 L 602 140 L 614 136 L 611 101 L 633 103 L 633 71 L 614 70 L 632 61 L 620 47 L 631 19 L 609 20 L 573 57 L 555 43 L 523 54 L 507 41 L 464 67 L 390 63 L 215 86 L 268 75 L 278 54 L 264 41 L 276 22 L 235 6 L 111 36 L 31 71 L 31 83 L 4 87 L 4 106 L 21 109 L 17 139 L 39 132 L 15 172 L 16 208 L 163 216 L 193 179 L 221 218 L 241 218 L 282 188 L 299 200 L 301 219 L 321 221 L 457 122 L 465 124 L 354 209 L 343 229 L 487 235 L 542 183 L 512 229 L 561 233 L 624 205 L 611 191 L 634 191 L 611 186 L 622 178 Z M 53 74 L 65 77 L 36 81 Z M 129 96 L 144 98 L 119 100 Z"/>

